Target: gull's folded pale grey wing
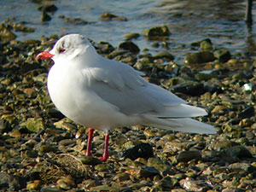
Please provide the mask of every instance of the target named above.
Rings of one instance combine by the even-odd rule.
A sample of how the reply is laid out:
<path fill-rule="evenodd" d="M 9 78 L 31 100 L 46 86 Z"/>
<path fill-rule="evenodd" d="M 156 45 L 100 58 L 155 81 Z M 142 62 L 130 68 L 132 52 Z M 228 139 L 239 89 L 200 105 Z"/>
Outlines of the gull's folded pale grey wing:
<path fill-rule="evenodd" d="M 149 84 L 141 77 L 143 73 L 117 61 L 84 69 L 84 75 L 90 76 L 90 90 L 127 115 L 164 114 L 166 107 L 186 103 L 171 92 Z"/>

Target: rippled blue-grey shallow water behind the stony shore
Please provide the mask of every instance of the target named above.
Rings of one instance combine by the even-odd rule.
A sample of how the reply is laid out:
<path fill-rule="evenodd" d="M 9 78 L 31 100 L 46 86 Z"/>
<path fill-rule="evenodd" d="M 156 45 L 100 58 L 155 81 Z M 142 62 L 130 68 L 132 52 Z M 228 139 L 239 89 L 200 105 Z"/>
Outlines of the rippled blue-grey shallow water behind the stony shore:
<path fill-rule="evenodd" d="M 190 44 L 203 38 L 211 38 L 215 47 L 228 48 L 232 54 L 256 55 L 256 14 L 253 15 L 255 23 L 249 29 L 244 21 L 246 1 L 57 0 L 55 5 L 58 10 L 51 15 L 52 20 L 42 22 L 38 4 L 29 0 L 0 0 L 0 20 L 15 17 L 17 22 L 26 21 L 26 26 L 35 28 L 32 33 L 15 32 L 19 40 L 79 32 L 96 42 L 108 41 L 113 46 L 124 41 L 127 33 L 141 33 L 151 26 L 167 25 L 172 32 L 167 40 L 168 50 L 175 55 L 176 61 L 183 62 L 185 53 L 191 51 Z M 103 13 L 125 16 L 128 21 L 99 20 Z M 60 15 L 91 23 L 75 26 L 66 23 Z M 133 41 L 140 49 L 149 48 L 153 54 L 166 49 L 161 46 L 154 49 L 150 46 L 153 42 L 143 36 Z"/>

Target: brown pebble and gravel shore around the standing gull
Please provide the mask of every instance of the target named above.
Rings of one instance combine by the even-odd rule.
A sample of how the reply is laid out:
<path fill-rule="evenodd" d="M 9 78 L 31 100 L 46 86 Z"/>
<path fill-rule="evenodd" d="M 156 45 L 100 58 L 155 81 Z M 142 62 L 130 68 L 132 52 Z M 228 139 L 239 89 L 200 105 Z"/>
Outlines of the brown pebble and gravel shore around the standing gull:
<path fill-rule="evenodd" d="M 1 191 L 256 191 L 256 61 L 215 49 L 210 39 L 191 44 L 195 51 L 181 65 L 168 49 L 151 55 L 132 42 L 119 48 L 94 43 L 99 54 L 206 108 L 208 116 L 198 119 L 218 130 L 200 135 L 118 128 L 110 135 L 110 158 L 102 162 L 96 158 L 102 132 L 95 132 L 94 157 L 86 157 L 87 128 L 66 119 L 49 99 L 53 62 L 35 60 L 60 37 L 19 42 L 12 30 L 10 23 L 0 28 Z M 160 44 L 170 35 L 166 26 L 143 34 Z"/>

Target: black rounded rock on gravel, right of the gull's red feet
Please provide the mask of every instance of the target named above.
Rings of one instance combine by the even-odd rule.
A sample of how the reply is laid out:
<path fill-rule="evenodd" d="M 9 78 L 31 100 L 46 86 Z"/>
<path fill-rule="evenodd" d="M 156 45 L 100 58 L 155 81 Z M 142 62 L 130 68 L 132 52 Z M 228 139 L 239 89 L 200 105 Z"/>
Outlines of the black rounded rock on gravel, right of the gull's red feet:
<path fill-rule="evenodd" d="M 154 155 L 153 148 L 148 143 L 139 143 L 133 148 L 129 148 L 125 150 L 123 154 L 125 158 L 129 158 L 131 160 L 136 160 L 139 157 L 148 159 L 149 157 L 153 157 L 153 155 Z"/>

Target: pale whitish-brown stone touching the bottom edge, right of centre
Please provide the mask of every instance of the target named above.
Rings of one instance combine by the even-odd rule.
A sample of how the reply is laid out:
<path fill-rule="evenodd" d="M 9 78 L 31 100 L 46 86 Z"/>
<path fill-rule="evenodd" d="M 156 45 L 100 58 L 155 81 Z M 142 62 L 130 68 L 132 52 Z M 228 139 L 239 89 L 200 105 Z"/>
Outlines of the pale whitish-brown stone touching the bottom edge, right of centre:
<path fill-rule="evenodd" d="M 189 178 L 182 179 L 179 184 L 188 191 L 200 191 L 206 192 L 209 189 L 209 185 L 202 180 L 190 180 Z"/>

